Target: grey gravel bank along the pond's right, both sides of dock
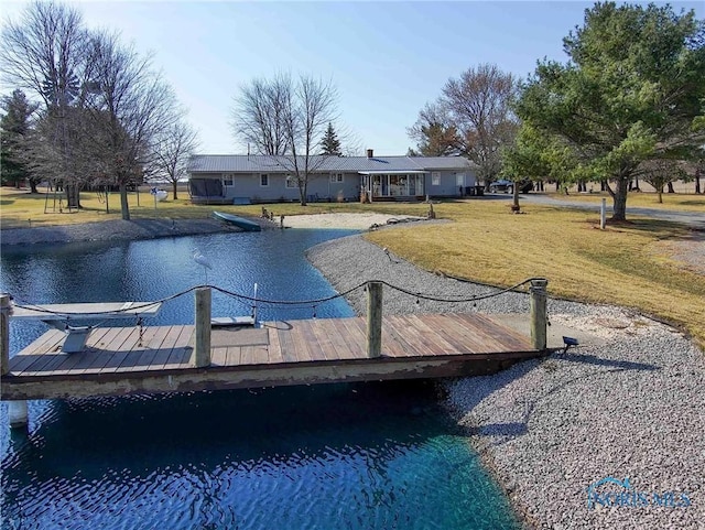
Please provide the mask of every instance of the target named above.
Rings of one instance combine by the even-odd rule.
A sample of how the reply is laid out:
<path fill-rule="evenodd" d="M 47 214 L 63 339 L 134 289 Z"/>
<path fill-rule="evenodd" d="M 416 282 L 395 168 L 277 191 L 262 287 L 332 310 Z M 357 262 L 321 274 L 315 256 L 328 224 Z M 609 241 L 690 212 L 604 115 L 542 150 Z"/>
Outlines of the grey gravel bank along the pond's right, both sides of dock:
<path fill-rule="evenodd" d="M 489 289 L 419 270 L 359 236 L 308 257 L 338 291 L 372 279 L 436 295 Z M 365 312 L 364 293 L 350 303 Z M 523 293 L 471 307 L 384 290 L 387 313 L 525 313 L 528 305 Z M 541 529 L 705 528 L 703 353 L 681 333 L 619 307 L 550 300 L 549 312 L 553 323 L 595 340 L 495 376 L 445 382 L 448 407 L 513 506 Z M 607 477 L 622 485 L 596 484 Z"/>

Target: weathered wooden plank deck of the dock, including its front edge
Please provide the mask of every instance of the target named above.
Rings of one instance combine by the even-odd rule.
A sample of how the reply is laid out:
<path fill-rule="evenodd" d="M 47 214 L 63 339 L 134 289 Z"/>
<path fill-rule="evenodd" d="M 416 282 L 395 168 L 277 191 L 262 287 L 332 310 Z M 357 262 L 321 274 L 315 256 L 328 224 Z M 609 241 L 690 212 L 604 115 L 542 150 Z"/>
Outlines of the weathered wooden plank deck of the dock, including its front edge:
<path fill-rule="evenodd" d="M 366 321 L 321 318 L 214 328 L 212 364 L 189 359 L 194 326 L 95 329 L 80 353 L 50 331 L 10 359 L 2 399 L 180 392 L 318 382 L 448 377 L 496 371 L 535 357 L 529 337 L 488 315 L 386 316 L 382 356 L 366 354 Z"/>

